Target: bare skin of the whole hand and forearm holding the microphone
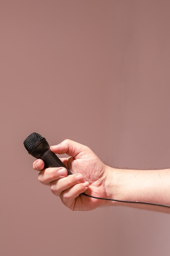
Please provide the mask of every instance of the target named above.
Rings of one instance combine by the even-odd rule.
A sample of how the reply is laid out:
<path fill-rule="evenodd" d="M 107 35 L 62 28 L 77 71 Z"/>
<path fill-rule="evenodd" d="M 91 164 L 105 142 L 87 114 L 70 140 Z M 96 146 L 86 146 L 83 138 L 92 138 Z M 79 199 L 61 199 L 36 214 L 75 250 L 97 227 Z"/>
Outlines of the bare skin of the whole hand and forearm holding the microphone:
<path fill-rule="evenodd" d="M 68 158 L 61 160 L 73 175 L 67 175 L 63 167 L 44 169 L 41 159 L 33 162 L 33 168 L 40 171 L 38 180 L 50 186 L 52 193 L 59 196 L 62 203 L 72 211 L 90 211 L 117 205 L 170 213 L 168 207 L 115 202 L 82 195 L 86 193 L 99 198 L 170 205 L 170 169 L 146 171 L 111 168 L 90 148 L 69 139 L 51 146 L 51 151 L 68 155 Z"/>

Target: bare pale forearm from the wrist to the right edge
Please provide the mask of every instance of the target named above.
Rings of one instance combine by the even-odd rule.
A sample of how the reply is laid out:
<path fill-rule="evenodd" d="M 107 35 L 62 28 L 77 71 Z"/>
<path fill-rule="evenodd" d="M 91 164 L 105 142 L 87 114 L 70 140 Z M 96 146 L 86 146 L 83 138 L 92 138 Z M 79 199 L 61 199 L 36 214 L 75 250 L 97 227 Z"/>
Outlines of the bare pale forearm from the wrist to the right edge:
<path fill-rule="evenodd" d="M 111 183 L 109 198 L 150 202 L 170 205 L 170 169 L 163 170 L 126 170 L 108 167 Z M 139 203 L 107 202 L 109 205 L 124 205 L 152 211 L 170 213 L 170 208 Z"/>

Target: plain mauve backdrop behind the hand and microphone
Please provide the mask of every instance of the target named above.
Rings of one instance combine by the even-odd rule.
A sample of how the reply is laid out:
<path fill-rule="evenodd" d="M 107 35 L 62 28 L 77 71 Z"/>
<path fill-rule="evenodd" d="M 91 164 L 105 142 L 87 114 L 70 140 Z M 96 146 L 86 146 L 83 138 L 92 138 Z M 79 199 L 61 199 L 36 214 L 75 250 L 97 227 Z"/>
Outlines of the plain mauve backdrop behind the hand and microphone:
<path fill-rule="evenodd" d="M 170 254 L 170 216 L 72 212 L 38 182 L 31 132 L 119 168 L 170 167 L 170 1 L 0 1 L 0 255 Z"/>

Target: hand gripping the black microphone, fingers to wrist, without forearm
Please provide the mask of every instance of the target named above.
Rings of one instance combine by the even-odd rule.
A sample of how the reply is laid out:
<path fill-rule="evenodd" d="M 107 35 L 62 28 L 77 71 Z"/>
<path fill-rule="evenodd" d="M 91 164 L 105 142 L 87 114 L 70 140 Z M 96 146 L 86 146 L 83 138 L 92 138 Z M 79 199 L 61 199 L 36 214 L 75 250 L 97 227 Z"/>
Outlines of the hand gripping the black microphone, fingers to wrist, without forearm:
<path fill-rule="evenodd" d="M 82 195 L 85 192 L 95 197 L 109 197 L 108 166 L 90 148 L 66 139 L 56 146 L 51 146 L 51 151 L 70 156 L 61 160 L 73 175 L 67 175 L 63 167 L 43 170 L 44 162 L 41 159 L 35 160 L 33 168 L 40 171 L 38 180 L 49 185 L 53 194 L 60 196 L 66 207 L 73 211 L 89 211 L 107 204 L 106 200 Z"/>

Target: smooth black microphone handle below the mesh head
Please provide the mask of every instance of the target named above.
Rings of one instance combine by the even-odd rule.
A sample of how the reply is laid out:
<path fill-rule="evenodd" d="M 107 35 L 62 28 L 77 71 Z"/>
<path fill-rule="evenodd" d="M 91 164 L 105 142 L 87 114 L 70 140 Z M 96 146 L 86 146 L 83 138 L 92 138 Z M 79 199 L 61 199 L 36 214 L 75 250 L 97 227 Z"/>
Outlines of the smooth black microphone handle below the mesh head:
<path fill-rule="evenodd" d="M 40 155 L 38 158 L 44 161 L 44 168 L 49 167 L 64 167 L 67 169 L 68 175 L 72 174 L 71 171 L 62 163 L 62 161 L 53 153 L 50 148 Z"/>

